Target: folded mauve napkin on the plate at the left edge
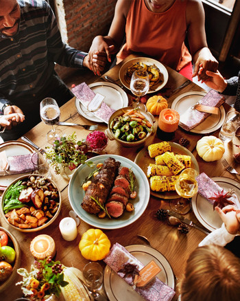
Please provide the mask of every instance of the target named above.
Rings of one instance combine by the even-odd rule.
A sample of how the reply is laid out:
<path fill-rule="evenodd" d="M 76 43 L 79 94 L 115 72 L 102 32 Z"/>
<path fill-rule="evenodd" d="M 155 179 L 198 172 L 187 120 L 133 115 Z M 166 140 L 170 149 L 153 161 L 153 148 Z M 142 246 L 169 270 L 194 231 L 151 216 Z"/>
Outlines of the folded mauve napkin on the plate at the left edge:
<path fill-rule="evenodd" d="M 5 150 L 1 153 L 4 152 Z M 6 156 L 1 154 L 1 157 L 3 158 Z M 5 164 L 5 168 L 0 169 L 0 175 L 15 175 L 35 170 L 31 157 L 32 154 L 6 157 L 8 164 Z"/>

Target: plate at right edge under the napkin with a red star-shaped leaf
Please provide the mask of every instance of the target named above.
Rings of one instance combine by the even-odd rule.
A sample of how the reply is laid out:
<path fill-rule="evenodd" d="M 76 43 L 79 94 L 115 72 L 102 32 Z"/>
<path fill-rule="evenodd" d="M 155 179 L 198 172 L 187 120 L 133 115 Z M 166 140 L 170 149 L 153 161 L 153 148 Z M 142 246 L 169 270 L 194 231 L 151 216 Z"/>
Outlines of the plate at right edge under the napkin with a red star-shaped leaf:
<path fill-rule="evenodd" d="M 227 177 L 213 177 L 211 179 L 226 191 L 234 189 L 240 200 L 240 183 L 238 181 Z M 213 205 L 199 193 L 192 198 L 192 208 L 197 220 L 209 231 L 212 232 L 221 227 L 223 222 L 218 213 L 213 211 Z"/>

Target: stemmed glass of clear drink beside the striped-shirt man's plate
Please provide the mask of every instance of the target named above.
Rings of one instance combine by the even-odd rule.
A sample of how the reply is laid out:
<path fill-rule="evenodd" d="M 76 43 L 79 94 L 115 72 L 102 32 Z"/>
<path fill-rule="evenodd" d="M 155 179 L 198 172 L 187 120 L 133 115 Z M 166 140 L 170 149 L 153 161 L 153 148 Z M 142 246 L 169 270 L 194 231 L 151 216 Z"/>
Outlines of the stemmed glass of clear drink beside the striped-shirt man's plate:
<path fill-rule="evenodd" d="M 47 142 L 53 142 L 62 135 L 62 131 L 54 129 L 54 124 L 60 120 L 60 109 L 53 98 L 45 98 L 40 102 L 40 118 L 45 124 L 51 124 L 52 129 L 47 133 Z"/>

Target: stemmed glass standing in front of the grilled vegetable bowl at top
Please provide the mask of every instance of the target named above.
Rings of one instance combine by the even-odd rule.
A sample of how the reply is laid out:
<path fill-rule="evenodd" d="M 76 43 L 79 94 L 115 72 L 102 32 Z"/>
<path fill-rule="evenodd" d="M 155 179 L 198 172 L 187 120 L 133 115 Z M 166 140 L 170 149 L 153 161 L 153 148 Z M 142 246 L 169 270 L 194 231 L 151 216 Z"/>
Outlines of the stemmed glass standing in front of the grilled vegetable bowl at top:
<path fill-rule="evenodd" d="M 144 96 L 149 90 L 149 75 L 143 69 L 135 70 L 132 74 L 130 89 L 137 96 L 136 101 L 132 102 L 131 107 L 139 107 L 146 110 L 145 104 L 140 102 L 140 96 Z"/>

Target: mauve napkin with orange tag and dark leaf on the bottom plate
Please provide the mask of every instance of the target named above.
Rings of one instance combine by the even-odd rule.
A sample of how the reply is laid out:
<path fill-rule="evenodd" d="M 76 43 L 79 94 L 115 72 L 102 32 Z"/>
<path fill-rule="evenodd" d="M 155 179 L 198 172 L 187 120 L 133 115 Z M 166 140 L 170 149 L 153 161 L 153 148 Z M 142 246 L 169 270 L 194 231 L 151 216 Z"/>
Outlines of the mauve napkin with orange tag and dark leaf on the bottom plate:
<path fill-rule="evenodd" d="M 125 247 L 119 245 L 119 243 L 112 245 L 110 252 L 104 258 L 104 262 L 123 278 L 128 285 L 132 285 L 132 276 L 119 271 L 123 268 L 123 265 L 131 263 L 132 265 L 136 265 L 139 270 L 144 267 L 139 260 L 132 256 Z M 175 295 L 175 291 L 171 287 L 165 285 L 156 277 L 144 287 L 133 287 L 133 289 L 147 301 L 170 301 Z"/>

